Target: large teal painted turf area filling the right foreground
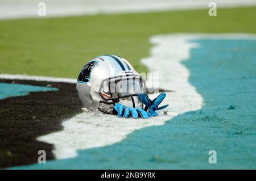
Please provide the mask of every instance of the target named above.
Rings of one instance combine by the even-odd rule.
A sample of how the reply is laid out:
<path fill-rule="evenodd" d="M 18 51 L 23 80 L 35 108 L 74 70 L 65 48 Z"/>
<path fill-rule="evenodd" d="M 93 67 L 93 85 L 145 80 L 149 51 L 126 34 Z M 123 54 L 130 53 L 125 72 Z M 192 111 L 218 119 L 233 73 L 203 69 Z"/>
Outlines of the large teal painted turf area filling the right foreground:
<path fill-rule="evenodd" d="M 72 159 L 16 169 L 256 169 L 256 41 L 195 40 L 183 64 L 204 98 L 199 111 L 135 131 Z M 217 164 L 208 151 L 217 151 Z"/>

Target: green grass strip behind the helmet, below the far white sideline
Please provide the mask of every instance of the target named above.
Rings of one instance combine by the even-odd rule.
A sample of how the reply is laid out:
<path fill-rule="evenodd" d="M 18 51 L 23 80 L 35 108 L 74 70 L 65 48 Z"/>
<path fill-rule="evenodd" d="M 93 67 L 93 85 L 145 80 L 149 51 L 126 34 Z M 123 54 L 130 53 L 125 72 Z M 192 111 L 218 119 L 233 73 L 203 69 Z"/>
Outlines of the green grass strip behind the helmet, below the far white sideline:
<path fill-rule="evenodd" d="M 0 73 L 77 77 L 100 54 L 118 54 L 139 73 L 159 33 L 256 33 L 256 7 L 0 21 Z"/>

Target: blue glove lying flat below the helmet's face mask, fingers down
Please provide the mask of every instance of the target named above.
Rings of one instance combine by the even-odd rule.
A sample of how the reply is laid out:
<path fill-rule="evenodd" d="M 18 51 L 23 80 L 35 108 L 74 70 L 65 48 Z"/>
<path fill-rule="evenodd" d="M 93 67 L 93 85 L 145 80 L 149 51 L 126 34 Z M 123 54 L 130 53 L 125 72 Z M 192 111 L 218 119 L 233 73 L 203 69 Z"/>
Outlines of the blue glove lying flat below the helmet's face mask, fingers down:
<path fill-rule="evenodd" d="M 117 115 L 118 117 L 133 117 L 138 118 L 142 117 L 144 119 L 147 119 L 148 113 L 140 108 L 129 108 L 126 106 L 123 106 L 123 104 L 117 103 L 114 106 L 113 109 L 113 115 Z"/>

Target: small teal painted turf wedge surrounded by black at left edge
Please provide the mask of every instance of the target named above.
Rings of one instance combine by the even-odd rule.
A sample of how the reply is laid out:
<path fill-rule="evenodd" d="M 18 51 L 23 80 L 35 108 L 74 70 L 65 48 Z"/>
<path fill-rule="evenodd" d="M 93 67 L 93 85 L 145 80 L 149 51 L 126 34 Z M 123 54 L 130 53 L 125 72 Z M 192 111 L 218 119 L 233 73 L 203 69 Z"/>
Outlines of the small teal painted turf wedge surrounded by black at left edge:
<path fill-rule="evenodd" d="M 0 99 L 27 95 L 30 92 L 57 91 L 56 88 L 0 82 Z"/>

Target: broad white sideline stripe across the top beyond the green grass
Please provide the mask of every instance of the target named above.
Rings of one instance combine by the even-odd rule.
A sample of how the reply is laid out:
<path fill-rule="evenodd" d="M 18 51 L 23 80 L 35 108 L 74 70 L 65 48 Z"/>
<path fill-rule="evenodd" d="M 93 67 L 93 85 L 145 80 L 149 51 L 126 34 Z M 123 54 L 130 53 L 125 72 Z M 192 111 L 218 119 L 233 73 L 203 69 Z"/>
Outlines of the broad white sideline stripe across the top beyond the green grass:
<path fill-rule="evenodd" d="M 38 16 L 38 3 L 35 0 L 1 0 L 0 19 L 42 18 Z M 121 14 L 152 11 L 207 9 L 209 2 L 219 7 L 255 6 L 255 0 L 44 0 L 46 18 L 70 15 Z"/>

